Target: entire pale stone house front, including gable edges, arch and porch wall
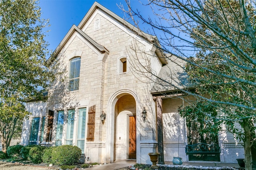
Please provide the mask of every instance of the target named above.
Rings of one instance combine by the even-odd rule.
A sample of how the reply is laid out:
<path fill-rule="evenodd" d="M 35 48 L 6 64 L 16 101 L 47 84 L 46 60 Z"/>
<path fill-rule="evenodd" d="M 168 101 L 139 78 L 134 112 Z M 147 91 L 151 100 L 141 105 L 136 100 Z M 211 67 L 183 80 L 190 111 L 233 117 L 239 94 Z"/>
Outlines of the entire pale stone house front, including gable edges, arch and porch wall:
<path fill-rule="evenodd" d="M 62 145 L 66 144 L 68 128 L 68 111 L 75 110 L 74 134 L 72 145 L 78 145 L 79 111 L 86 108 L 86 131 L 84 139 L 84 157 L 90 162 L 110 163 L 115 160 L 130 158 L 130 117 L 136 116 L 136 161 L 150 164 L 149 152 L 156 152 L 158 146 L 156 102 L 151 94 L 153 82 L 141 76 L 134 69 L 143 72 L 143 65 L 150 63 L 150 69 L 156 74 L 163 63 L 156 53 L 154 42 L 148 35 L 138 35 L 136 29 L 98 3 L 95 3 L 78 27 L 70 29 L 55 51 L 51 66 L 58 68 L 56 81 L 48 90 L 48 101 L 29 102 L 27 109 L 32 113 L 30 119 L 24 121 L 22 145 L 28 145 L 31 123 L 34 117 L 40 118 L 38 144 L 55 146 L 58 126 L 58 112 L 64 111 Z M 137 50 L 137 53 L 135 51 Z M 140 53 L 138 53 L 140 51 Z M 143 52 L 143 53 L 142 53 Z M 80 57 L 79 89 L 69 91 L 70 60 Z M 123 72 L 123 61 L 126 59 L 126 71 Z M 51 60 L 51 59 L 50 59 Z M 172 161 L 173 157 L 182 157 L 188 161 L 185 153 L 187 145 L 186 123 L 177 113 L 177 109 L 185 104 L 178 97 L 162 98 L 162 122 L 164 141 L 164 161 Z M 95 121 L 88 120 L 88 111 L 95 107 Z M 147 111 L 145 121 L 143 109 Z M 46 142 L 46 129 L 42 128 L 42 117 L 54 111 L 52 140 Z M 100 115 L 106 113 L 101 121 Z M 87 129 L 93 126 L 93 129 Z M 93 132 L 92 134 L 89 134 Z M 40 141 L 40 134 L 44 141 Z M 93 139 L 87 139 L 88 136 Z M 226 135 L 226 136 L 225 136 Z M 222 140 L 223 139 L 223 140 Z M 235 162 L 243 149 L 232 135 L 219 134 L 221 162 Z M 134 145 L 134 144 L 133 144 Z M 235 156 L 230 156 L 234 154 Z"/>

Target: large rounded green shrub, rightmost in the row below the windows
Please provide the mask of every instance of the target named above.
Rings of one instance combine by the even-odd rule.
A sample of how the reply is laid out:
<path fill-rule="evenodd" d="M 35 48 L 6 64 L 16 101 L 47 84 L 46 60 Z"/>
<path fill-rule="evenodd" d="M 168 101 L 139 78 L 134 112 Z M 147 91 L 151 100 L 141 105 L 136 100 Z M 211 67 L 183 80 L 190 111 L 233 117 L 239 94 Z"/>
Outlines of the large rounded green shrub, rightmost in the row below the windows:
<path fill-rule="evenodd" d="M 52 164 L 71 165 L 81 158 L 81 149 L 76 146 L 62 145 L 52 149 Z"/>

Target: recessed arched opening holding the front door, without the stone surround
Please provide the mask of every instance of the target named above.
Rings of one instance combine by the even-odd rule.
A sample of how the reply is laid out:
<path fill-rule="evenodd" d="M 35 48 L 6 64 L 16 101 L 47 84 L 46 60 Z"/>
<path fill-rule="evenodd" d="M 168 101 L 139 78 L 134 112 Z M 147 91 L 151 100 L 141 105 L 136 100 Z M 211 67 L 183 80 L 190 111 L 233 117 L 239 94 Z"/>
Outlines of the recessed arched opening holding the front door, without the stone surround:
<path fill-rule="evenodd" d="M 114 160 L 136 159 L 136 102 L 130 94 L 115 106 Z"/>

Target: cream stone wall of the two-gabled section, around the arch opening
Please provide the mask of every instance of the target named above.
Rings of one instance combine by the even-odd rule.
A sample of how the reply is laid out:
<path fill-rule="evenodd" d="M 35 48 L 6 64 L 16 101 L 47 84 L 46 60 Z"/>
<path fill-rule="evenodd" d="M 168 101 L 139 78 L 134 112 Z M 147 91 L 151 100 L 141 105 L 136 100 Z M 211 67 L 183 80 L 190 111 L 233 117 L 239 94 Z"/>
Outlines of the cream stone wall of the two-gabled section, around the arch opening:
<path fill-rule="evenodd" d="M 100 29 L 98 30 L 94 29 L 94 21 L 96 19 L 100 19 Z M 147 78 L 140 77 L 135 72 L 132 72 L 129 61 L 136 56 L 135 52 L 130 48 L 132 43 L 136 43 L 143 51 L 149 52 L 152 49 L 152 45 L 101 12 L 96 12 L 82 30 L 98 44 L 108 49 L 110 53 L 106 61 L 102 61 L 102 54 L 88 43 L 87 40 L 83 39 L 81 35 L 74 33 L 58 55 L 57 65 L 59 64 L 58 69 L 62 70 L 62 75 L 49 91 L 50 99 L 48 108 L 54 110 L 54 113 L 57 113 L 58 110 L 78 110 L 82 107 L 88 108 L 96 105 L 94 141 L 86 142 L 85 153 L 88 156 L 90 155 L 90 161 L 92 162 L 106 162 L 108 159 L 106 155 L 107 127 L 110 125 L 107 123 L 107 119 L 104 125 L 102 125 L 100 121 L 101 111 L 106 112 L 107 115 L 114 114 L 107 113 L 109 107 L 108 102 L 111 96 L 118 90 L 131 90 L 138 97 L 138 103 L 136 103 L 137 108 L 135 110 L 139 110 L 136 116 L 138 119 L 137 126 L 140 129 L 138 133 L 140 135 L 137 143 L 143 143 L 144 146 L 142 151 L 139 149 L 142 155 L 139 154 L 137 162 L 148 161 L 147 154 L 148 152 L 152 152 L 156 143 L 156 127 L 152 124 L 152 122 L 155 122 L 155 106 L 150 94 L 152 83 L 145 83 L 149 82 Z M 79 90 L 68 92 L 69 61 L 72 57 L 76 56 L 81 57 L 80 86 Z M 128 59 L 128 66 L 130 67 L 128 67 L 126 73 L 120 73 L 119 71 L 118 64 L 120 62 L 118 60 L 121 57 Z M 139 56 L 139 58 L 142 59 L 142 56 Z M 150 60 L 150 57 L 148 59 Z M 141 61 L 144 62 L 143 60 Z M 152 62 L 160 65 L 158 60 L 152 60 Z M 157 68 L 159 69 L 160 67 Z M 141 122 L 140 114 L 143 107 L 146 107 L 148 110 L 146 123 Z M 53 138 L 54 134 L 56 134 L 56 115 L 54 114 Z M 76 131 L 76 128 L 75 125 L 74 131 Z M 111 135 L 114 135 L 114 133 Z M 65 138 L 65 133 L 63 134 L 63 138 Z M 73 144 L 76 145 L 76 139 L 73 140 Z M 124 157 L 120 151 L 117 151 L 116 158 L 120 159 Z"/>

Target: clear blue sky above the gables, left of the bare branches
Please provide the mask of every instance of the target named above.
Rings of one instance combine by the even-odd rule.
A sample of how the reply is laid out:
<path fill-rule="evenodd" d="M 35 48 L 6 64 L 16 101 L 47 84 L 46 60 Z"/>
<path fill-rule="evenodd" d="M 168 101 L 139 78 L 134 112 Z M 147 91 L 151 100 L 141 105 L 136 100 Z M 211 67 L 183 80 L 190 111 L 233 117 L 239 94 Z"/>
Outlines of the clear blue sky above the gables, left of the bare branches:
<path fill-rule="evenodd" d="M 48 49 L 54 51 L 72 25 L 80 23 L 95 0 L 40 0 L 39 2 L 42 18 L 49 19 L 51 25 L 48 27 L 50 31 L 46 33 L 45 40 L 50 44 Z M 124 18 L 124 13 L 117 6 L 121 3 L 126 7 L 124 0 L 97 0 L 97 2 Z M 148 1 L 141 0 L 141 2 Z M 130 0 L 130 4 L 146 13 L 145 6 L 142 6 L 139 0 Z"/>

